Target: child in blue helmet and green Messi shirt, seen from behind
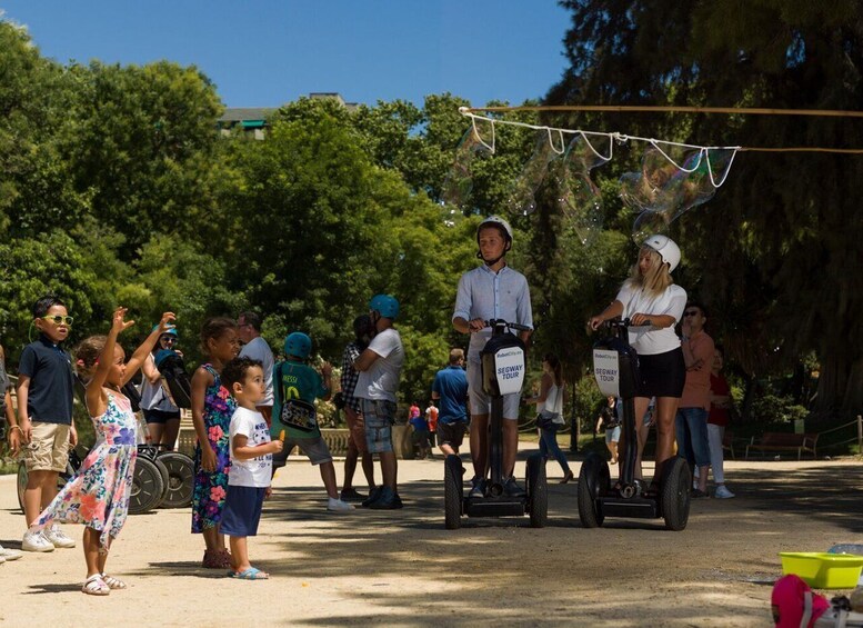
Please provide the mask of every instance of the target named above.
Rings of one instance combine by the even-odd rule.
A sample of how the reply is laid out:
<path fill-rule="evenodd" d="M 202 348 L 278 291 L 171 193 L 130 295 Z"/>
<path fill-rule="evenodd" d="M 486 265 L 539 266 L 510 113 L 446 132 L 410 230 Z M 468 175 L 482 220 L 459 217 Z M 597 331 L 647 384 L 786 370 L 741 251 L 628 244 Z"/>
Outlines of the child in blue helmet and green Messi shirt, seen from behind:
<path fill-rule="evenodd" d="M 294 446 L 299 446 L 309 457 L 312 465 L 321 468 L 321 479 L 327 488 L 327 510 L 343 512 L 353 510 L 353 506 L 339 498 L 335 486 L 335 467 L 332 463 L 330 448 L 327 447 L 321 430 L 317 423 L 308 428 L 300 428 L 282 422 L 282 408 L 291 400 L 299 399 L 307 405 L 313 405 L 315 399 L 327 400 L 332 390 L 332 367 L 324 362 L 321 375 L 312 367 L 307 366 L 305 360 L 312 350 L 312 339 L 300 331 L 290 333 L 284 339 L 284 355 L 287 359 L 275 365 L 273 372 L 273 420 L 270 433 L 279 436 L 281 430 L 288 433 L 288 442 L 279 456 L 273 459 L 273 467 L 284 467 L 288 453 Z"/>

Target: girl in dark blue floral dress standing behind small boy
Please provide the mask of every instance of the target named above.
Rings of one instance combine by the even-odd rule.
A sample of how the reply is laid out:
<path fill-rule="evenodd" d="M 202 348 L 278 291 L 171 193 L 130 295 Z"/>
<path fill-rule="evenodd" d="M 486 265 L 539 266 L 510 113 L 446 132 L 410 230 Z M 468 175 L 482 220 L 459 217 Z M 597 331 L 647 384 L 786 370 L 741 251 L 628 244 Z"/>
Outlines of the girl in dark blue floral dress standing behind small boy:
<path fill-rule="evenodd" d="M 225 569 L 231 565 L 231 555 L 219 526 L 231 468 L 229 433 L 237 402 L 222 386 L 220 373 L 240 351 L 237 323 L 223 317 L 207 319 L 201 328 L 201 349 L 209 359 L 192 377 L 192 422 L 198 435 L 192 534 L 203 535 L 207 545 L 202 566 Z"/>

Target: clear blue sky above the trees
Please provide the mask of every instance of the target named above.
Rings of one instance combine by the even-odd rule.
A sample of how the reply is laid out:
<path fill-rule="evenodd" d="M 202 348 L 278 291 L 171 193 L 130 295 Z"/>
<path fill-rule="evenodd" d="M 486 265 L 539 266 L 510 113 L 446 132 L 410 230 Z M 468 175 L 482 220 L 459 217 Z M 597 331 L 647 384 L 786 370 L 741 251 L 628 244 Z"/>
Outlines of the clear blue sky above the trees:
<path fill-rule="evenodd" d="M 449 91 L 479 107 L 540 98 L 561 77 L 554 0 L 0 0 L 61 63 L 197 66 L 228 107 L 311 92 L 348 102 Z"/>

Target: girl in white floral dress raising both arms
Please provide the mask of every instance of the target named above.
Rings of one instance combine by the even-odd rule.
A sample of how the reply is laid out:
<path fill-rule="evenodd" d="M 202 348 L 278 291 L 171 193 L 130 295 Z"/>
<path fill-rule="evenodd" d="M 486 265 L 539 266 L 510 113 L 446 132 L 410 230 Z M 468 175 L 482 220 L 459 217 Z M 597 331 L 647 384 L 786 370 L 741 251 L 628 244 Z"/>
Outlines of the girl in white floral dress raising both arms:
<path fill-rule="evenodd" d="M 92 336 L 77 351 L 79 373 L 88 380 L 87 409 L 96 429 L 96 445 L 78 474 L 67 482 L 30 527 L 41 530 L 54 521 L 83 524 L 87 580 L 81 590 L 106 596 L 126 584 L 104 570 L 111 541 L 126 522 L 138 456 L 138 422 L 131 402 L 120 392 L 141 368 L 159 337 L 171 328 L 174 316 L 165 312 L 162 321 L 136 350 L 128 363 L 117 337 L 134 321 L 126 321 L 126 308 L 117 308 L 108 336 Z"/>

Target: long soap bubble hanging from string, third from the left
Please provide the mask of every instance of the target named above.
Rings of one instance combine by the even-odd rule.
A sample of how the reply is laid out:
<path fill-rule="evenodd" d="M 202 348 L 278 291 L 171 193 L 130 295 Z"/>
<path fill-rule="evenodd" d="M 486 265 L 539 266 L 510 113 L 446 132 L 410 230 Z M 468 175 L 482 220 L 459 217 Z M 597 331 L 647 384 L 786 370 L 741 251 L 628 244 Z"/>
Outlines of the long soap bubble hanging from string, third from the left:
<path fill-rule="evenodd" d="M 586 243 L 602 229 L 602 195 L 590 178 L 590 171 L 611 159 L 611 137 L 605 154 L 594 148 L 584 133 L 578 133 L 563 157 L 555 159 L 550 171 L 558 187 L 558 206 L 581 239 Z"/>

